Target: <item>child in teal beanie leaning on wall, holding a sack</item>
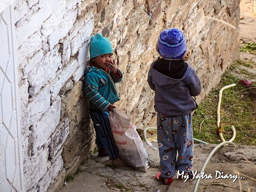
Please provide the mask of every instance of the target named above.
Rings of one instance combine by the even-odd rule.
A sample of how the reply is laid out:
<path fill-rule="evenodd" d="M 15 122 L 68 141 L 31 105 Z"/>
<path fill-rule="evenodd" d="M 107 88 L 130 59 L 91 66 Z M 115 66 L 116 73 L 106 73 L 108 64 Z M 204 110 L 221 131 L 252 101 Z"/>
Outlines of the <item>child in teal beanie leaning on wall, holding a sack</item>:
<path fill-rule="evenodd" d="M 99 156 L 109 156 L 117 166 L 126 165 L 118 155 L 108 120 L 108 111 L 120 100 L 115 83 L 123 78 L 113 59 L 113 47 L 107 37 L 97 33 L 91 37 L 90 65 L 85 68 L 84 92 L 90 101 L 90 115 L 96 132 Z"/>

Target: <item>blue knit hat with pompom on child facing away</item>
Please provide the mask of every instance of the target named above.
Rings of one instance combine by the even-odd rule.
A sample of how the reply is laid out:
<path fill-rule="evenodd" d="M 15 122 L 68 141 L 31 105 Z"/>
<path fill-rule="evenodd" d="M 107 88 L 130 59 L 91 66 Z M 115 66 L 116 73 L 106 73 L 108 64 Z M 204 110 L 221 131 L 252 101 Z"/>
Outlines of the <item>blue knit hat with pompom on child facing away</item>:
<path fill-rule="evenodd" d="M 187 60 L 189 53 L 186 45 L 186 38 L 178 28 L 168 28 L 159 36 L 157 51 L 167 59 Z M 186 59 L 184 54 L 186 53 Z"/>

